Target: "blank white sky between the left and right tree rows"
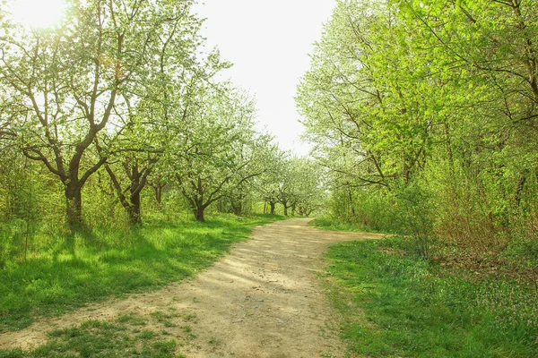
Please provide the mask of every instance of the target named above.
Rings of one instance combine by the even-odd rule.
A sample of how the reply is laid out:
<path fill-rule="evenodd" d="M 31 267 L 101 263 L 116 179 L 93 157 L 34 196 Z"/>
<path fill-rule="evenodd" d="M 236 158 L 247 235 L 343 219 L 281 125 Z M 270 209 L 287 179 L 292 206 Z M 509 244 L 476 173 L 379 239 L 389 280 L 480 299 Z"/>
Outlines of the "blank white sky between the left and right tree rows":
<path fill-rule="evenodd" d="M 306 155 L 295 93 L 334 0 L 200 0 L 203 35 L 234 66 L 227 77 L 255 96 L 258 123 L 282 149 Z"/>

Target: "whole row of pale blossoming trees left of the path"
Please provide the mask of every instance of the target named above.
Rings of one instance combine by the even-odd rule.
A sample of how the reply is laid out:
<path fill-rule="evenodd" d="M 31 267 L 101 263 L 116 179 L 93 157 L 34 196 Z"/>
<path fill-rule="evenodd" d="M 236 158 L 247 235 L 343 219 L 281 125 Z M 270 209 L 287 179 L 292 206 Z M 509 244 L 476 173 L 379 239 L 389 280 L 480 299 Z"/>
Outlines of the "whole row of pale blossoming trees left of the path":
<path fill-rule="evenodd" d="M 49 30 L 0 13 L 4 220 L 75 231 L 119 206 L 140 223 L 149 192 L 155 208 L 181 197 L 199 221 L 222 200 L 241 214 L 247 196 L 312 212 L 319 175 L 256 132 L 255 104 L 219 80 L 230 64 L 204 52 L 192 3 L 68 1 Z"/>

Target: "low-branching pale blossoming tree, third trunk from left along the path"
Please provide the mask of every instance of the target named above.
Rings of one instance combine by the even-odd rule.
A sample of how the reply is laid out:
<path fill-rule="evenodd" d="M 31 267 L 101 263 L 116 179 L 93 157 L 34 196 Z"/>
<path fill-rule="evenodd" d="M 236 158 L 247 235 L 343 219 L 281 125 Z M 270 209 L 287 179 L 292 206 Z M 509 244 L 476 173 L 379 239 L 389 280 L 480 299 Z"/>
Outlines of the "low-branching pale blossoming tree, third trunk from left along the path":
<path fill-rule="evenodd" d="M 198 221 L 204 210 L 263 172 L 265 136 L 254 131 L 253 103 L 227 85 L 201 85 L 188 126 L 170 147 L 172 175 Z"/>

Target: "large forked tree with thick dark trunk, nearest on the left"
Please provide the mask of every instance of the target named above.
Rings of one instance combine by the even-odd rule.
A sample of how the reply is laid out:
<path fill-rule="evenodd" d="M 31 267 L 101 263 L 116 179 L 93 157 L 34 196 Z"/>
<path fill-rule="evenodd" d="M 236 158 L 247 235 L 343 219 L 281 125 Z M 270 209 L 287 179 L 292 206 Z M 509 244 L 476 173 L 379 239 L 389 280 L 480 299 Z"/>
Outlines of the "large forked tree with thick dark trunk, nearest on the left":
<path fill-rule="evenodd" d="M 3 24 L 0 93 L 11 97 L 11 125 L 25 156 L 64 184 L 71 229 L 82 225 L 82 186 L 107 162 L 128 124 L 127 107 L 140 99 L 137 87 L 151 78 L 162 30 L 185 18 L 177 31 L 188 38 L 195 26 L 190 4 L 70 2 L 54 30 Z"/>

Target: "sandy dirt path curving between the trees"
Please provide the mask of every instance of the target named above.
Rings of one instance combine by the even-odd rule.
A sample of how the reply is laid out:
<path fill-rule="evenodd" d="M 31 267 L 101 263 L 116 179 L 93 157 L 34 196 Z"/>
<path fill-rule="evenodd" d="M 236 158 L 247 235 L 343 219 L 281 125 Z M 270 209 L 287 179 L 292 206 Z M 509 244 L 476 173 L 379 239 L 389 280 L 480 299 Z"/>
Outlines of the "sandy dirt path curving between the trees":
<path fill-rule="evenodd" d="M 193 339 L 181 347 L 189 358 L 342 357 L 334 313 L 317 278 L 320 256 L 329 243 L 382 235 L 334 233 L 307 225 L 308 219 L 291 219 L 256 227 L 252 240 L 235 244 L 198 277 L 40 320 L 0 335 L 0 349 L 42 345 L 47 332 L 84 320 L 174 311 L 177 318 L 171 320 L 192 319 Z"/>

